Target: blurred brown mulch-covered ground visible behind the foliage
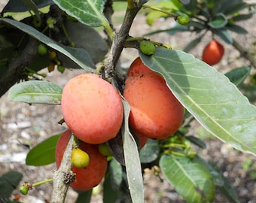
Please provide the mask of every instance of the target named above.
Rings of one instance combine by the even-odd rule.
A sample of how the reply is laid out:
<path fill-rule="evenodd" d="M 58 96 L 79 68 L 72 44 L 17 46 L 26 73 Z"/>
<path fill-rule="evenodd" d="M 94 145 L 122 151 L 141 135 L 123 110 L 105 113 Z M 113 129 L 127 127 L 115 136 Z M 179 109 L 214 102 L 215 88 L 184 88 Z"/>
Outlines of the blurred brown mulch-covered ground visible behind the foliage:
<path fill-rule="evenodd" d="M 242 26 L 248 30 L 247 35 L 232 34 L 240 44 L 243 44 L 249 51 L 255 52 L 253 43 L 256 41 L 256 34 L 254 28 L 256 26 L 256 17 L 242 23 Z M 160 29 L 172 26 L 173 20 L 158 20 L 154 26 Z M 133 24 L 130 35 L 141 36 L 149 31 L 151 27 L 145 24 L 143 15 L 136 18 Z M 195 38 L 195 34 L 191 33 L 177 33 L 175 35 L 168 35 L 166 33 L 160 35 L 153 35 L 149 38 L 154 41 L 163 42 L 164 44 L 172 44 L 174 49 L 181 50 L 185 44 L 191 39 Z M 209 36 L 210 37 L 210 36 Z M 202 43 L 191 50 L 195 57 L 200 58 L 205 44 L 209 38 L 204 38 Z M 234 50 L 231 45 L 225 44 L 224 59 L 221 63 L 215 65 L 215 68 L 222 73 L 229 71 L 232 68 L 242 65 L 249 65 L 246 59 L 239 57 L 239 52 Z M 130 63 L 138 56 L 135 50 L 124 50 L 120 59 L 120 65 L 128 68 Z M 46 70 L 43 70 L 47 72 Z M 65 74 L 60 74 L 57 71 L 47 74 L 47 80 L 53 81 L 64 86 L 64 84 L 77 74 L 81 74 L 82 70 L 66 70 Z M 14 103 L 8 100 L 8 94 L 0 98 L 0 175 L 7 171 L 15 170 L 23 174 L 23 180 L 29 182 L 36 182 L 50 178 L 55 169 L 55 164 L 34 167 L 25 165 L 26 153 L 30 147 L 43 141 L 50 135 L 55 135 L 63 132 L 66 126 L 59 126 L 57 122 L 62 118 L 59 106 L 47 105 L 26 105 L 21 103 Z M 205 159 L 212 159 L 223 171 L 225 177 L 230 180 L 233 189 L 241 203 L 256 203 L 256 157 L 247 153 L 241 153 L 234 150 L 217 138 L 208 136 L 203 128 L 197 123 L 194 123 L 194 128 L 191 129 L 190 135 L 203 137 L 206 141 L 206 150 L 199 150 L 200 156 Z M 24 145 L 25 144 L 25 145 Z M 245 170 L 247 162 L 251 162 L 248 169 Z M 161 174 L 160 174 L 161 175 Z M 163 177 L 161 175 L 161 177 Z M 181 196 L 175 192 L 175 189 L 164 180 L 160 182 L 158 177 L 155 177 L 151 170 L 145 172 L 145 202 L 185 202 Z M 163 178 L 164 179 L 164 178 Z M 45 202 L 50 200 L 52 191 L 52 184 L 44 184 L 35 190 L 29 192 L 29 195 L 22 196 L 21 202 Z M 93 200 L 91 202 L 102 202 L 100 186 L 95 190 Z M 17 190 L 14 195 L 19 194 Z M 77 193 L 69 189 L 66 198 L 67 203 L 75 202 Z M 220 192 L 217 192 L 214 202 L 229 202 Z"/>

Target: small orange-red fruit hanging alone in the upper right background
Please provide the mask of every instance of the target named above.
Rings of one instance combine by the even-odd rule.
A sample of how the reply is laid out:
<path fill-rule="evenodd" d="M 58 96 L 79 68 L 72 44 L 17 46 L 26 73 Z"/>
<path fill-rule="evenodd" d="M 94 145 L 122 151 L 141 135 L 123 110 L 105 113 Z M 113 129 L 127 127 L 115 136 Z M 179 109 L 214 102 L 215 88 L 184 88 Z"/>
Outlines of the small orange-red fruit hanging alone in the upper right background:
<path fill-rule="evenodd" d="M 209 65 L 215 65 L 221 61 L 224 55 L 224 47 L 218 41 L 212 40 L 203 50 L 202 60 Z"/>

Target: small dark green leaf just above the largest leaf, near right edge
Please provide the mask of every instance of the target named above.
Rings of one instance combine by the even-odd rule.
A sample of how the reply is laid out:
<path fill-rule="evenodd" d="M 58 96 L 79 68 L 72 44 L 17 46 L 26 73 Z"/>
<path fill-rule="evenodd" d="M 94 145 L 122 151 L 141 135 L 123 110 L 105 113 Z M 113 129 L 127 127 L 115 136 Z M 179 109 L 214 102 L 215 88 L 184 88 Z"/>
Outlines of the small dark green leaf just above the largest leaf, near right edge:
<path fill-rule="evenodd" d="M 234 68 L 233 70 L 227 72 L 225 75 L 227 76 L 231 83 L 234 83 L 236 86 L 238 86 L 245 80 L 248 74 L 250 74 L 250 71 L 250 67 L 242 66 L 239 68 Z"/>

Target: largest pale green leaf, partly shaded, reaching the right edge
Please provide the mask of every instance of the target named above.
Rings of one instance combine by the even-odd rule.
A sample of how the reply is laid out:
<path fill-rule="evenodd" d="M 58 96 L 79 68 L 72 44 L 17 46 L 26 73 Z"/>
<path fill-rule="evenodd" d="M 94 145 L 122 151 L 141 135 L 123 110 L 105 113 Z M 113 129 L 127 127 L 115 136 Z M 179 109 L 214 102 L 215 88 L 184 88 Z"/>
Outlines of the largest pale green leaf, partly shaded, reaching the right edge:
<path fill-rule="evenodd" d="M 165 77 L 205 129 L 237 150 L 256 155 L 256 108 L 224 74 L 180 50 L 156 49 L 152 56 L 140 56 Z"/>

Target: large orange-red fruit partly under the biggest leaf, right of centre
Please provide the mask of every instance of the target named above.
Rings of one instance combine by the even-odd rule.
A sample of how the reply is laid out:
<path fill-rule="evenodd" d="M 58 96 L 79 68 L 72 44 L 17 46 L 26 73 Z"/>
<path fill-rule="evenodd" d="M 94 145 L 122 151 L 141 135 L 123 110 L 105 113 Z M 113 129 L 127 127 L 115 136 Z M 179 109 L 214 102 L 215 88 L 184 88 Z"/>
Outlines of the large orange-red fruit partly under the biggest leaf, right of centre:
<path fill-rule="evenodd" d="M 128 77 L 123 96 L 131 107 L 129 121 L 133 132 L 147 138 L 163 139 L 181 126 L 184 108 L 160 74 Z"/>

